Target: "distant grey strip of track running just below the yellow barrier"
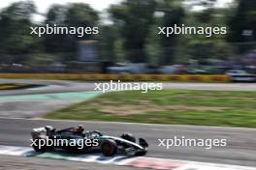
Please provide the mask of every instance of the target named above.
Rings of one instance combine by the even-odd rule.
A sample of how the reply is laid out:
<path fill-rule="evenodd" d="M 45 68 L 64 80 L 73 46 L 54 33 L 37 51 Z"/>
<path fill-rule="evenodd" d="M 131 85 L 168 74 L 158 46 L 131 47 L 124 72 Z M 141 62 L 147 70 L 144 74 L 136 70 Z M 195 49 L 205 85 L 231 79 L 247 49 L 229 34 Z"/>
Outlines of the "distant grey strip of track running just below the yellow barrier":
<path fill-rule="evenodd" d="M 50 94 L 65 92 L 92 92 L 97 82 L 69 80 L 0 79 L 0 83 L 24 83 L 45 85 L 43 88 L 0 91 L 1 96 Z M 212 90 L 212 91 L 256 91 L 256 83 L 178 83 L 163 82 L 164 89 Z"/>

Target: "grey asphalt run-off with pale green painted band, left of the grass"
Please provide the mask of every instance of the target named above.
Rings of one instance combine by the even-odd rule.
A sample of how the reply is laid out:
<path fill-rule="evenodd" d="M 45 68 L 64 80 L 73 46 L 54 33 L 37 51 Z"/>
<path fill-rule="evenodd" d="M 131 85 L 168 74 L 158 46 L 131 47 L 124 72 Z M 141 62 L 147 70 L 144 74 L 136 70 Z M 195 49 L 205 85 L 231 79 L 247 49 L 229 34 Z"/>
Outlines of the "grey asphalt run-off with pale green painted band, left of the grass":
<path fill-rule="evenodd" d="M 31 118 L 93 98 L 93 83 L 61 80 L 0 79 L 0 83 L 43 85 L 39 88 L 0 91 L 0 117 Z"/>

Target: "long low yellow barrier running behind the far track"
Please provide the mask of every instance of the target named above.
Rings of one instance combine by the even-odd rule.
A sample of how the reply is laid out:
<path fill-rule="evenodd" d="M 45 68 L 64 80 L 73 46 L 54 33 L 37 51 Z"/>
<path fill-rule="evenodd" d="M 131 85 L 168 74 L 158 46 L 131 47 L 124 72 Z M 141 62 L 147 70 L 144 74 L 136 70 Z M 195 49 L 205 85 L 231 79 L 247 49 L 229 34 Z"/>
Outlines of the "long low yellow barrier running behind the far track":
<path fill-rule="evenodd" d="M 182 81 L 230 82 L 228 75 L 197 74 L 79 74 L 79 73 L 0 73 L 0 78 L 67 79 L 67 80 L 123 80 L 123 81 Z"/>

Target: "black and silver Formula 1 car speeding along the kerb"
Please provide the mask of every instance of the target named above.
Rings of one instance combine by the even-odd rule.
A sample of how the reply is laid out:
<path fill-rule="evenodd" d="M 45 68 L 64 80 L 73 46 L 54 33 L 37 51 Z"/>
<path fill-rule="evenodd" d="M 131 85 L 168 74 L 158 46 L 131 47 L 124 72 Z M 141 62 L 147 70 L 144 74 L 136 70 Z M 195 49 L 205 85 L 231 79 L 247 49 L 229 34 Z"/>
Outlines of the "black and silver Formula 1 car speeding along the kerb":
<path fill-rule="evenodd" d="M 148 144 L 139 138 L 139 144 L 131 133 L 123 133 L 120 137 L 109 136 L 100 131 L 78 133 L 78 128 L 56 130 L 52 127 L 34 128 L 31 132 L 31 146 L 36 152 L 61 150 L 66 152 L 102 153 L 104 156 L 116 154 L 128 156 L 144 156 Z"/>

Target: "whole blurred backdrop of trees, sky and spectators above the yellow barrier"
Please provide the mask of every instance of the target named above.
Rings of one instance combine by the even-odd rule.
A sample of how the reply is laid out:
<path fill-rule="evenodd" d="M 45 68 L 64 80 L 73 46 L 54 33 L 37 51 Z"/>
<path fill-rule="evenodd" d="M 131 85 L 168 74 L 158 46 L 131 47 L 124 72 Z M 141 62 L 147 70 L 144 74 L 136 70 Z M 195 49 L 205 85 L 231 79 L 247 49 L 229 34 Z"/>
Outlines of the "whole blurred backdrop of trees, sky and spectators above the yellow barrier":
<path fill-rule="evenodd" d="M 70 1 L 50 3 L 43 12 L 43 3 L 3 4 L 1 72 L 256 72 L 256 2 L 252 0 L 123 0 L 107 3 L 105 10 Z M 228 34 L 158 36 L 158 26 L 182 23 L 226 26 Z M 99 26 L 100 34 L 30 35 L 30 26 L 46 24 Z"/>

